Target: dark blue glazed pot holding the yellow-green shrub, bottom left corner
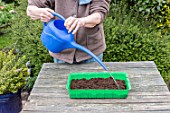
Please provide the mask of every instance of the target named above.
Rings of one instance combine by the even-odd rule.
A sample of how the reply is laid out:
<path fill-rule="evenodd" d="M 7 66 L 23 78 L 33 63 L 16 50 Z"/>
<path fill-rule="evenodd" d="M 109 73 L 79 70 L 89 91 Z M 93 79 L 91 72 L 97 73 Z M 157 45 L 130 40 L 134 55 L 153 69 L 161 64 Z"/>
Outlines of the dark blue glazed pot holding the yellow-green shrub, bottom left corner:
<path fill-rule="evenodd" d="M 19 113 L 21 109 L 21 91 L 0 95 L 0 113 Z"/>

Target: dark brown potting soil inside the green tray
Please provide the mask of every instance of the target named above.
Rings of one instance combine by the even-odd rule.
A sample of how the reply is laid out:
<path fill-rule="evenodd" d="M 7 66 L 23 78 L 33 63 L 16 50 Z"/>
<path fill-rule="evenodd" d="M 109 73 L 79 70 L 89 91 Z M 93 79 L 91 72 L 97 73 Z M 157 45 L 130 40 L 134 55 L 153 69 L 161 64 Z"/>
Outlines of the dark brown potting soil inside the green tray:
<path fill-rule="evenodd" d="M 116 80 L 120 89 L 126 89 L 125 81 Z M 71 89 L 118 89 L 112 77 L 92 78 L 90 80 L 74 79 L 71 81 Z"/>

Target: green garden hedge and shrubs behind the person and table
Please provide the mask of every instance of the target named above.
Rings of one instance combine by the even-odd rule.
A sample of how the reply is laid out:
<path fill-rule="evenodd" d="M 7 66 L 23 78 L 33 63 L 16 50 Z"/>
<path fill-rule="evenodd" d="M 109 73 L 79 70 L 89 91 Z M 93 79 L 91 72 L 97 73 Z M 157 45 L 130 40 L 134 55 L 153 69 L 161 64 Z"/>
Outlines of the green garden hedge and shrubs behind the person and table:
<path fill-rule="evenodd" d="M 40 40 L 43 24 L 26 15 L 27 0 L 0 0 L 0 50 L 31 62 L 30 91 L 43 63 L 53 62 Z M 104 21 L 104 62 L 154 61 L 170 80 L 170 0 L 112 0 Z"/>

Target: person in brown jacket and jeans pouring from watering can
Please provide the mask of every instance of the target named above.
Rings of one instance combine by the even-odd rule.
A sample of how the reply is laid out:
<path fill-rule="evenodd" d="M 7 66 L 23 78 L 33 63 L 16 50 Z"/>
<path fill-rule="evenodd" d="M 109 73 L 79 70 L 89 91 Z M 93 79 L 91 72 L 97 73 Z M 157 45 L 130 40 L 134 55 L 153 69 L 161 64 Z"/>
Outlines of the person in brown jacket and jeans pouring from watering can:
<path fill-rule="evenodd" d="M 49 22 L 51 12 L 66 18 L 64 26 L 74 34 L 76 43 L 86 47 L 101 61 L 106 49 L 103 21 L 109 12 L 110 0 L 28 0 L 27 16 Z M 77 49 L 65 49 L 49 54 L 55 63 L 94 62 L 88 54 Z"/>

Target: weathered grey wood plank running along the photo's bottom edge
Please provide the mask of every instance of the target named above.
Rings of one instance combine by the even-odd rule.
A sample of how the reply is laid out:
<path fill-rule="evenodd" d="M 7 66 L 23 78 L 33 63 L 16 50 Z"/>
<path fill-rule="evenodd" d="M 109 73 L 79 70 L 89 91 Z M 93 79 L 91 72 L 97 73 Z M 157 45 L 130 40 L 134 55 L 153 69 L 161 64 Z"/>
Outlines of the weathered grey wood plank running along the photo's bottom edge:
<path fill-rule="evenodd" d="M 37 106 L 27 105 L 24 110 L 37 110 L 37 111 L 49 111 L 49 112 L 79 112 L 86 111 L 93 112 L 125 112 L 125 111 L 170 111 L 168 104 L 58 104 L 50 106 Z"/>

